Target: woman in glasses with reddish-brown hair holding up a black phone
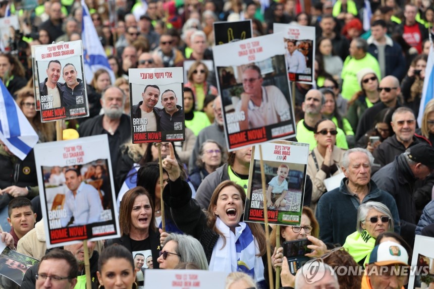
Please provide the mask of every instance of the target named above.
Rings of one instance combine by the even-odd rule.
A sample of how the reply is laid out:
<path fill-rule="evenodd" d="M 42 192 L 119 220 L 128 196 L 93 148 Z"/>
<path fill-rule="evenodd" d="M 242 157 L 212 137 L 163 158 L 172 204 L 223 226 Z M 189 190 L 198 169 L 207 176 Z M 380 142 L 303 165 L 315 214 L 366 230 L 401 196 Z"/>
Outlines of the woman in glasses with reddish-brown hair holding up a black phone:
<path fill-rule="evenodd" d="M 297 241 L 297 240 L 308 240 L 311 244 L 307 245 L 307 248 L 312 250 L 311 253 L 307 253 L 306 257 L 319 257 L 327 251 L 325 244 L 318 239 L 319 236 L 319 224 L 315 218 L 313 211 L 309 207 L 303 207 L 301 214 L 301 223 L 299 226 L 279 226 L 280 227 L 280 248 L 276 248 L 276 230 L 278 226 L 274 226 L 272 232 L 270 233 L 270 244 L 274 247 L 274 253 L 271 257 L 271 262 L 273 269 L 276 271 L 276 267 L 282 267 L 284 261 L 283 254 L 283 244 L 284 242 Z M 288 256 L 286 256 L 288 257 Z M 264 276 L 265 280 L 267 277 L 267 266 L 265 265 Z M 294 287 L 295 274 L 290 271 L 285 272 L 286 283 L 289 282 L 291 287 Z M 282 285 L 285 285 L 282 280 Z"/>

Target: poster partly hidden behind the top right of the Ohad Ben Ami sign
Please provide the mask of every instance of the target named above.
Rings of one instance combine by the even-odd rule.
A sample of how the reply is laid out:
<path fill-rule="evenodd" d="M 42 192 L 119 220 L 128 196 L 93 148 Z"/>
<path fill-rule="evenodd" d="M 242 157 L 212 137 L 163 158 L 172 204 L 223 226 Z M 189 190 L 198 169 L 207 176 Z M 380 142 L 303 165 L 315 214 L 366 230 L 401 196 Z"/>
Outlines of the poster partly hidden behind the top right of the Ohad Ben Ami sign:
<path fill-rule="evenodd" d="M 273 31 L 283 33 L 285 63 L 289 80 L 313 84 L 315 80 L 315 27 L 274 23 Z M 281 41 L 282 39 L 279 42 L 282 43 Z"/>

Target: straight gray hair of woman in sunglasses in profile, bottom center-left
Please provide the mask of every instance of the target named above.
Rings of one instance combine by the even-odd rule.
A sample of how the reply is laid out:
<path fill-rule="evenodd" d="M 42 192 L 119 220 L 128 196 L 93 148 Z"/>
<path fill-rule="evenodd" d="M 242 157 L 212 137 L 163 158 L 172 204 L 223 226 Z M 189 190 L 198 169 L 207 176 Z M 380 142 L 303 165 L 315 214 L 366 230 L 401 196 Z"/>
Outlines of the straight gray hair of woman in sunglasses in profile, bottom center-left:
<path fill-rule="evenodd" d="M 169 241 L 174 241 L 176 246 L 176 254 L 180 255 L 179 262 L 191 262 L 196 264 L 201 270 L 208 270 L 208 261 L 206 260 L 205 252 L 203 251 L 200 242 L 188 235 L 172 233 L 163 243 L 166 245 Z"/>

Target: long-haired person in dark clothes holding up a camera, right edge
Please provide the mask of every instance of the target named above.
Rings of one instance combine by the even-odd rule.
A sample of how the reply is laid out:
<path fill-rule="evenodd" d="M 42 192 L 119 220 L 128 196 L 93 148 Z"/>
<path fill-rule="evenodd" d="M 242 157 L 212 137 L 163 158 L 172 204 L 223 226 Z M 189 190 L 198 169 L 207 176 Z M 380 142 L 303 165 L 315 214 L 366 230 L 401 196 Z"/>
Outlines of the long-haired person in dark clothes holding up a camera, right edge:
<path fill-rule="evenodd" d="M 404 105 L 414 111 L 417 119 L 419 113 L 420 98 L 422 97 L 423 80 L 425 79 L 425 67 L 428 56 L 419 54 L 414 57 L 408 69 L 407 75 L 401 83 L 401 91 L 404 96 Z"/>

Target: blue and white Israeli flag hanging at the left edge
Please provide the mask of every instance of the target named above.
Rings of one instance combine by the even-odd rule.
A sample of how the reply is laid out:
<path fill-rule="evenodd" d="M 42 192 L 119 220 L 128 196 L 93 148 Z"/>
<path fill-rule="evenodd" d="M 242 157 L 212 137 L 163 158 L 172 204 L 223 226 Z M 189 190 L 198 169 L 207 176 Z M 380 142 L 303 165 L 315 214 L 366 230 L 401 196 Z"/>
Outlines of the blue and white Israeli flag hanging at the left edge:
<path fill-rule="evenodd" d="M 0 140 L 24 160 L 39 137 L 6 86 L 0 81 Z"/>

